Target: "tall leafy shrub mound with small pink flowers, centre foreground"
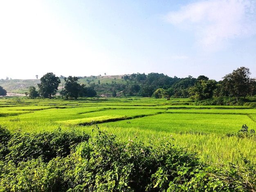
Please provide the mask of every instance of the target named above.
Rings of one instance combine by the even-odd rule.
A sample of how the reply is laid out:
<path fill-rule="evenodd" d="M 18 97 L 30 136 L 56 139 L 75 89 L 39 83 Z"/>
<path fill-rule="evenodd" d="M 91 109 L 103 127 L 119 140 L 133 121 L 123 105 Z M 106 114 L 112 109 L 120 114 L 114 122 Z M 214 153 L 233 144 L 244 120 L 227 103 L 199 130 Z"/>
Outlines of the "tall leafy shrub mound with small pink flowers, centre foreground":
<path fill-rule="evenodd" d="M 147 146 L 117 141 L 114 135 L 100 131 L 80 145 L 76 154 L 82 159 L 76 167 L 74 191 L 159 191 L 167 189 L 170 181 L 189 181 L 189 173 L 199 165 L 195 154 L 168 140 Z"/>

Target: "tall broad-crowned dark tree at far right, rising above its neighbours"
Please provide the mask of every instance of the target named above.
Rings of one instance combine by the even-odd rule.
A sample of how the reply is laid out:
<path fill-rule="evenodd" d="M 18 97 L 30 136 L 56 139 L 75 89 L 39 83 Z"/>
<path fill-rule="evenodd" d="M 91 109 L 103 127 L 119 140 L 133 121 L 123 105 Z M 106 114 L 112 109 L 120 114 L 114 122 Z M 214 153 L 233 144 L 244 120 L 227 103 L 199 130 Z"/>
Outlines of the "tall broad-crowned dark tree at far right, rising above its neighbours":
<path fill-rule="evenodd" d="M 222 85 L 238 101 L 238 97 L 243 96 L 245 98 L 251 92 L 253 81 L 249 76 L 250 74 L 249 68 L 240 67 L 223 77 Z"/>

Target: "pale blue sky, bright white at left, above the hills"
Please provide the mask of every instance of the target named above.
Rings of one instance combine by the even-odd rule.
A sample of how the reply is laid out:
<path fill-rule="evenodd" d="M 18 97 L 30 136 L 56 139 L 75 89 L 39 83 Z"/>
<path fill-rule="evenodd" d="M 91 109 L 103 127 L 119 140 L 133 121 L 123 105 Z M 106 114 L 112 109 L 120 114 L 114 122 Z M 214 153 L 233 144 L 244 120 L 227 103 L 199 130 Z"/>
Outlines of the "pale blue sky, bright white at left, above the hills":
<path fill-rule="evenodd" d="M 0 79 L 256 77 L 255 0 L 0 0 Z"/>

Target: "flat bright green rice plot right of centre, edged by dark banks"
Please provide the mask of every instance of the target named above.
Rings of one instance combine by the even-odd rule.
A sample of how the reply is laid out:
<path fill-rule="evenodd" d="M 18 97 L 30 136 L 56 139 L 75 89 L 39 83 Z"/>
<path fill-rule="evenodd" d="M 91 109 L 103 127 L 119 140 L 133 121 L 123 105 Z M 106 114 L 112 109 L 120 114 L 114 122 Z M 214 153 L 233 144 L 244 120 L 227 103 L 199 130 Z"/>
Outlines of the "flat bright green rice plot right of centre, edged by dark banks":
<path fill-rule="evenodd" d="M 247 115 L 222 114 L 158 114 L 126 121 L 104 123 L 110 127 L 139 128 L 165 132 L 205 132 L 226 134 L 237 132 L 243 124 L 256 127 L 256 123 Z"/>

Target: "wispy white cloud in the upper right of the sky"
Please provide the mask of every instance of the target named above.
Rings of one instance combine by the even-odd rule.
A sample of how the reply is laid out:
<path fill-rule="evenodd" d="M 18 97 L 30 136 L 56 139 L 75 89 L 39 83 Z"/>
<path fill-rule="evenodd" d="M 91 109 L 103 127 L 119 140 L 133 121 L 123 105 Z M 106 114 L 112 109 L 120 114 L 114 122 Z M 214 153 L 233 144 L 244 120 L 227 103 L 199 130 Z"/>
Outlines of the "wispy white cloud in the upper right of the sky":
<path fill-rule="evenodd" d="M 256 34 L 256 2 L 207 0 L 170 12 L 166 20 L 195 33 L 203 48 L 221 49 L 227 40 Z"/>

